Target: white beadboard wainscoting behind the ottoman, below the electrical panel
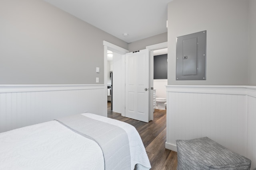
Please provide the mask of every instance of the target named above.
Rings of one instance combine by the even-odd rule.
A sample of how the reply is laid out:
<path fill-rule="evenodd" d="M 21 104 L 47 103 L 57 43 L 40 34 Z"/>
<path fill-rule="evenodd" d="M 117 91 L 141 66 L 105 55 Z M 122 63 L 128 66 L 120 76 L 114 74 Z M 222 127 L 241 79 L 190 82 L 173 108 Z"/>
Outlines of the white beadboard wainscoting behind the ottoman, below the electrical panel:
<path fill-rule="evenodd" d="M 256 168 L 256 86 L 166 86 L 166 148 L 209 137 Z"/>

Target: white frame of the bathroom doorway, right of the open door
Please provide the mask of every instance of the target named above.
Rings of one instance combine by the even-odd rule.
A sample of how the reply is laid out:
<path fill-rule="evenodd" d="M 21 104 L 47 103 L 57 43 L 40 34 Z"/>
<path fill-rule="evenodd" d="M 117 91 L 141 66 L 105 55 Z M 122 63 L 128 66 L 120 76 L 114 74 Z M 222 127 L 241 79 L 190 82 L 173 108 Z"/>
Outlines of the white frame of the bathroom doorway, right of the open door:
<path fill-rule="evenodd" d="M 151 89 L 151 88 L 154 88 L 154 50 L 164 49 L 164 48 L 168 48 L 168 43 L 167 42 L 146 46 L 146 49 L 149 49 L 149 64 L 150 64 L 150 66 L 149 66 L 149 69 L 150 69 L 150 71 L 149 71 L 149 74 L 150 74 L 149 75 L 149 85 L 150 85 L 150 93 L 149 93 L 150 114 L 149 114 L 149 120 L 154 119 L 153 90 Z"/>

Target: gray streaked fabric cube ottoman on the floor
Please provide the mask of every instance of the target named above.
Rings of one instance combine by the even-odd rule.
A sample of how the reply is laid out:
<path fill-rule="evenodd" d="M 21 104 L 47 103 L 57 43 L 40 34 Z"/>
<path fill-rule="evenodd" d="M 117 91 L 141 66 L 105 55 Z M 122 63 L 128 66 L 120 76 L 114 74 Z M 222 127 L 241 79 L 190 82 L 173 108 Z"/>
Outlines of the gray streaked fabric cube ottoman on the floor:
<path fill-rule="evenodd" d="M 176 140 L 177 170 L 250 170 L 251 160 L 208 137 Z"/>

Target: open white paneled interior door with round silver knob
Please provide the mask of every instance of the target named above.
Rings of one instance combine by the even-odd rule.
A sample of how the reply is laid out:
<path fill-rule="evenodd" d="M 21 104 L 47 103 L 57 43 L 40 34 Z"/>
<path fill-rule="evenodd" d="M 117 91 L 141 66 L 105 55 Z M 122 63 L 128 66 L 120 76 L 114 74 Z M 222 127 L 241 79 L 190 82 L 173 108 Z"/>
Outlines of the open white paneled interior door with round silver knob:
<path fill-rule="evenodd" d="M 125 55 L 125 117 L 149 121 L 149 50 Z"/>

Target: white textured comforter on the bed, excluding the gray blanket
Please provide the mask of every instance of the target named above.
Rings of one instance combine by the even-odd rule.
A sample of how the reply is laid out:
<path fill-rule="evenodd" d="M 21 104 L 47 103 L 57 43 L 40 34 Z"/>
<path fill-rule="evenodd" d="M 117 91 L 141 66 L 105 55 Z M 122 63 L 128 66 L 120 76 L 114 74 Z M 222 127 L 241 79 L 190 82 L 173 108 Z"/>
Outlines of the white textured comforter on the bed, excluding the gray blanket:
<path fill-rule="evenodd" d="M 140 164 L 139 169 L 150 169 L 144 145 L 133 126 L 91 113 L 82 115 L 124 129 L 130 143 L 131 167 Z M 49 121 L 0 133 L 0 169 L 104 170 L 104 157 L 94 141 L 57 121 Z"/>

